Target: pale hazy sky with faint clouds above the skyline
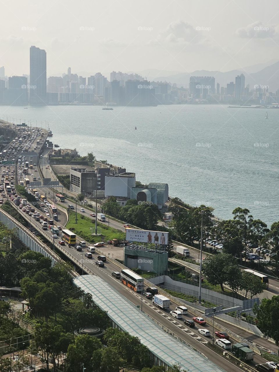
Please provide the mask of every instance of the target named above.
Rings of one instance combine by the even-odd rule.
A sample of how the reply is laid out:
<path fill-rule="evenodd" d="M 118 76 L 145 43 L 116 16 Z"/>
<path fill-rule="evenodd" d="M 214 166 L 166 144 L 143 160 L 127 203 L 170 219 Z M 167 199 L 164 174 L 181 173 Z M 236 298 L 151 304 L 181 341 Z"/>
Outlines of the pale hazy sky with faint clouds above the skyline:
<path fill-rule="evenodd" d="M 229 71 L 279 56 L 278 0 L 0 3 L 8 76 L 29 74 L 31 45 L 47 51 L 48 76 L 68 67 L 108 78 L 112 70 Z"/>

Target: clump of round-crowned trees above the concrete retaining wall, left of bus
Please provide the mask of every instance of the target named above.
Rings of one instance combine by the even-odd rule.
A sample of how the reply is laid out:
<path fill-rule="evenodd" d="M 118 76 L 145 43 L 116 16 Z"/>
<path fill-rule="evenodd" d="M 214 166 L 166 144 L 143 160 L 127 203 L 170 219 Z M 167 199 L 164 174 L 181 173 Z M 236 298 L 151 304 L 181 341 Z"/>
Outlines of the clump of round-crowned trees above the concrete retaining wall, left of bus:
<path fill-rule="evenodd" d="M 237 260 L 229 253 L 218 253 L 206 258 L 202 265 L 202 272 L 212 285 L 220 285 L 222 291 L 224 285 L 228 285 L 235 293 L 244 291 L 245 298 L 249 292 L 252 298 L 266 288 L 260 278 L 240 270 Z"/>

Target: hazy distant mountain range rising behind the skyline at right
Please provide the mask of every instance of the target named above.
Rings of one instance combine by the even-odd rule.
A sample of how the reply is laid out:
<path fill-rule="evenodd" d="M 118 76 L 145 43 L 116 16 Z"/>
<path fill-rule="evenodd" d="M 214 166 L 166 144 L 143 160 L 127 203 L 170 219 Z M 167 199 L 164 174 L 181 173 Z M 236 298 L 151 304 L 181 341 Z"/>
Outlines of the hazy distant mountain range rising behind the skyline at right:
<path fill-rule="evenodd" d="M 269 62 L 267 62 L 266 64 L 268 63 Z M 248 66 L 247 68 L 227 72 L 196 70 L 190 74 L 178 73 L 169 76 L 158 76 L 154 80 L 176 83 L 178 86 L 188 86 L 190 76 L 215 76 L 215 87 L 217 83 L 219 83 L 221 87 L 226 87 L 227 83 L 230 83 L 230 81 L 235 82 L 235 77 L 243 73 L 245 75 L 245 85 L 250 84 L 250 89 L 253 89 L 255 85 L 267 85 L 269 86 L 270 92 L 275 92 L 279 88 L 279 61 L 276 61 L 271 65 L 266 64 Z M 262 68 L 263 66 L 265 67 Z M 257 70 L 257 68 L 261 69 L 256 72 L 251 72 Z M 148 80 L 151 79 L 148 77 Z"/>

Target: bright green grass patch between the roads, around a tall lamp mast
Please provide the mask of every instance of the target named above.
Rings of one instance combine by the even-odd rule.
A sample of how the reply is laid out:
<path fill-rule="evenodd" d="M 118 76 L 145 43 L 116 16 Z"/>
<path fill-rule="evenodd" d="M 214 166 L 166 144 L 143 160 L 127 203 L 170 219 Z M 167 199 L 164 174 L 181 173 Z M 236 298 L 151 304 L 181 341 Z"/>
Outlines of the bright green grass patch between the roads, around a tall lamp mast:
<path fill-rule="evenodd" d="M 91 235 L 95 232 L 95 220 L 89 217 L 85 217 L 81 214 L 77 214 L 76 224 L 76 213 L 69 212 L 69 221 L 66 225 L 67 229 L 75 232 L 78 236 L 88 241 L 89 243 L 97 243 L 98 241 L 108 241 L 114 238 L 123 239 L 123 232 L 114 228 L 108 227 L 105 224 L 97 222 L 97 232 L 100 236 Z M 93 228 L 92 232 L 90 228 Z"/>

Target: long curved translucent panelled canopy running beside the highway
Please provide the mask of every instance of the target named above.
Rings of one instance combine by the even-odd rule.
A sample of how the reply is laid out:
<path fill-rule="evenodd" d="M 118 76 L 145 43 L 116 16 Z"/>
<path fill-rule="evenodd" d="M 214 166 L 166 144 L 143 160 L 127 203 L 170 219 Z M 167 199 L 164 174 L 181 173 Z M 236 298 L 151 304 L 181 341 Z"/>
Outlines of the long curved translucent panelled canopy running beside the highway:
<path fill-rule="evenodd" d="M 172 366 L 179 364 L 182 371 L 225 372 L 215 363 L 163 331 L 132 302 L 119 294 L 103 279 L 95 275 L 81 275 L 73 279 L 74 284 L 92 295 L 94 303 L 107 312 L 112 327 L 138 337 L 150 350 L 153 364 Z"/>

